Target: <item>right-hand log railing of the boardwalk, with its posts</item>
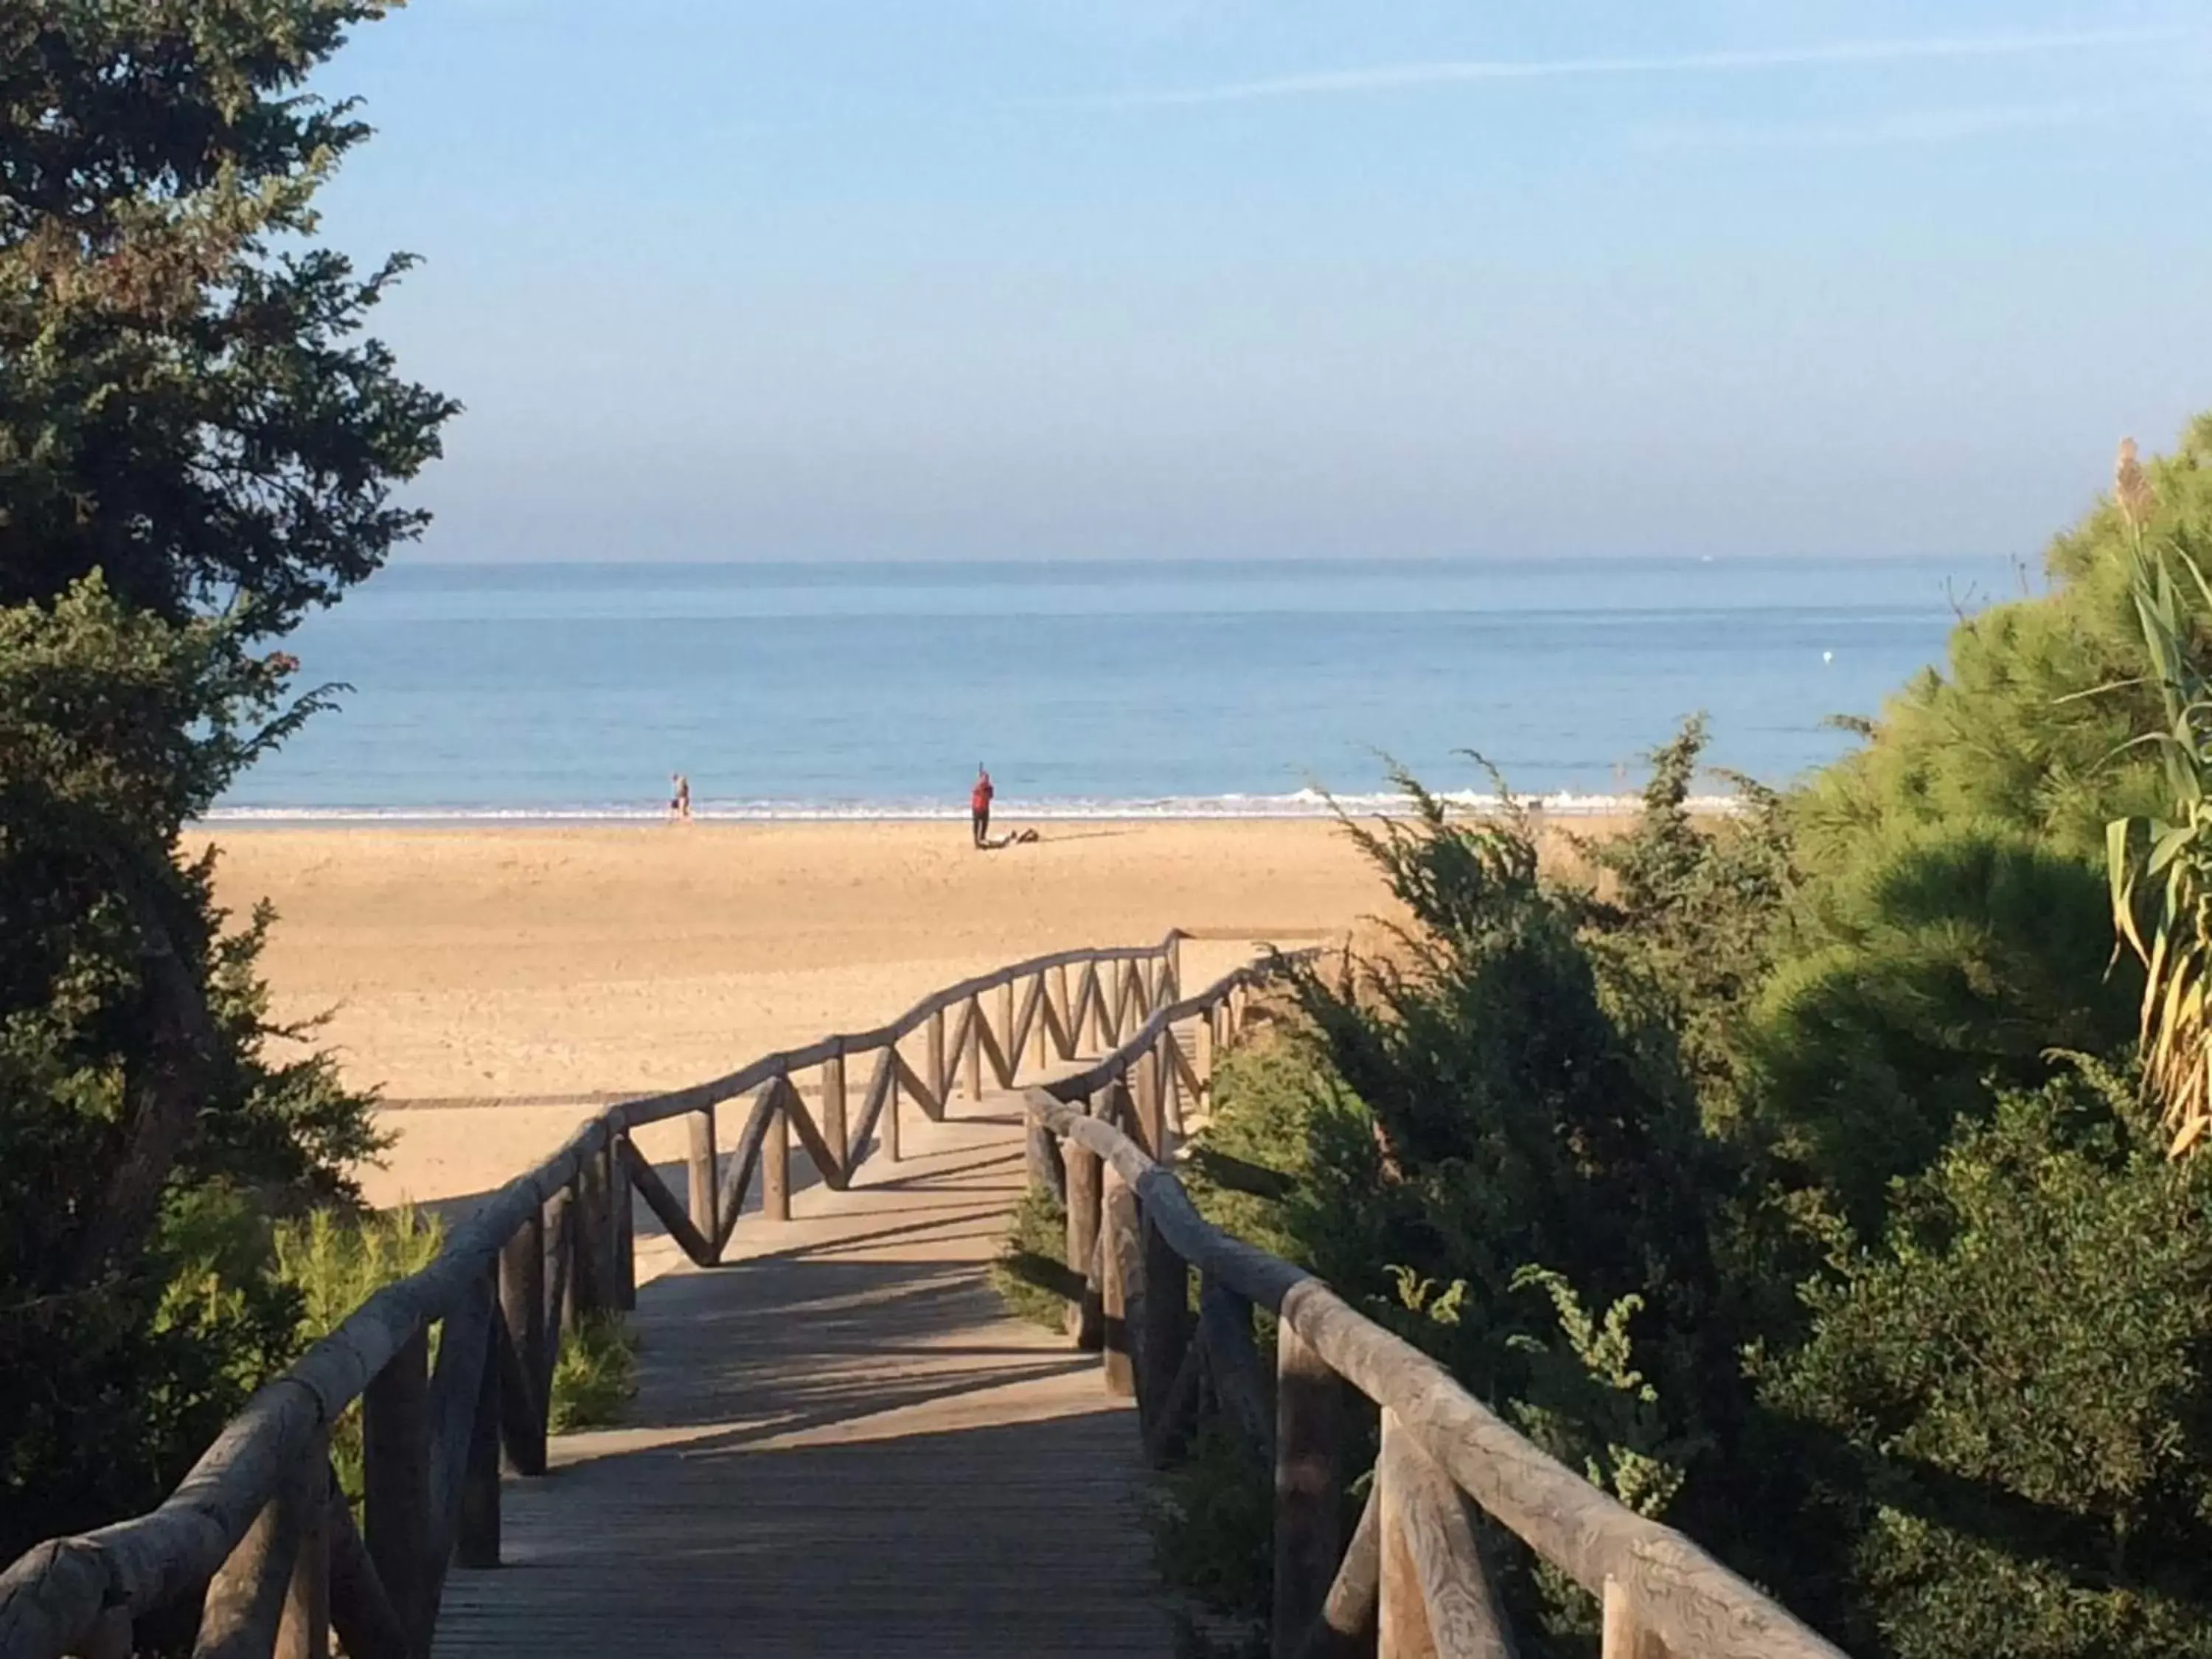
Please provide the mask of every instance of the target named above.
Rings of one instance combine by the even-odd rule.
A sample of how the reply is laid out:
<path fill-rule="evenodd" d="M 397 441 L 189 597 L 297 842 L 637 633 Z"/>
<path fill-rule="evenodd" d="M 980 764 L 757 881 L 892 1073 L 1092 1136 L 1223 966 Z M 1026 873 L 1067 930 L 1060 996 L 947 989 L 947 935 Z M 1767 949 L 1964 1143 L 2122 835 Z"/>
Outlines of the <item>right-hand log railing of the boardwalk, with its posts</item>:
<path fill-rule="evenodd" d="M 1208 1411 L 1272 1464 L 1274 1659 L 1515 1652 L 1478 1506 L 1599 1597 L 1604 1659 L 1843 1659 L 1688 1537 L 1509 1429 L 1323 1281 L 1199 1217 L 1170 1168 L 1152 1079 L 1181 1064 L 1177 1024 L 1219 1029 L 1223 987 L 1155 1009 L 1099 1064 L 1029 1091 L 1042 1141 L 1031 1175 L 1066 1203 L 1068 1265 L 1084 1281 L 1068 1327 L 1104 1352 L 1106 1387 L 1135 1396 L 1150 1458 L 1175 1462 Z M 1254 1307 L 1276 1316 L 1272 1378 Z M 1360 1396 L 1380 1413 L 1380 1458 L 1345 1540 Z"/>

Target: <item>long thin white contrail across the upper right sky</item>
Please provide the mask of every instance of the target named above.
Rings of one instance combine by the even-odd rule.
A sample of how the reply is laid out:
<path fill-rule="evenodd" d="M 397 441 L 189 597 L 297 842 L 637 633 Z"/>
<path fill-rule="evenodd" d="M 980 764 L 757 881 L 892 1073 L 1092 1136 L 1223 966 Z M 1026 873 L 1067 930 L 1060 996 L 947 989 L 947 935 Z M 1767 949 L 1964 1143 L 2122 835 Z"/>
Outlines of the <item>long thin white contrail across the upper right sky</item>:
<path fill-rule="evenodd" d="M 1823 64 L 1902 64 L 1931 58 L 2031 58 L 2090 51 L 2099 46 L 2154 46 L 2192 40 L 2188 29 L 2079 29 L 2044 35 L 1951 35 L 1927 40 L 1840 40 L 1818 46 L 1765 46 L 1750 51 L 1692 51 L 1657 58 L 1551 58 L 1533 62 L 1447 60 L 1433 64 L 1385 64 L 1338 69 L 1276 80 L 1225 82 L 1164 93 L 1126 93 L 1099 102 L 1115 106 L 1245 104 L 1263 97 L 1327 97 L 1343 93 L 1387 93 L 1418 86 L 1464 86 L 1511 80 L 1564 80 L 1571 75 L 1699 75 L 1759 69 L 1814 69 Z"/>

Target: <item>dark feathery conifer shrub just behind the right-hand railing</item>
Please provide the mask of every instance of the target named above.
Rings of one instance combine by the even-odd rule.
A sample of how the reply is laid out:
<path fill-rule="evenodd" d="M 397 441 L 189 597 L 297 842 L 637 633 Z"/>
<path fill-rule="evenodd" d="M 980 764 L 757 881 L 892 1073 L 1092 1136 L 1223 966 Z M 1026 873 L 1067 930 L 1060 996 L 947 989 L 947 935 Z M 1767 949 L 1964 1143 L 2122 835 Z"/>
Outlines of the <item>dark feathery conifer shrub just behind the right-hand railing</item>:
<path fill-rule="evenodd" d="M 1537 878 L 1520 821 L 1451 818 L 1407 787 L 1411 821 L 1354 832 L 1411 911 L 1402 962 L 1298 978 L 1327 1082 L 1290 1228 L 1480 1394 L 1515 1398 L 1513 1338 L 1551 1334 L 1515 1292 L 1531 1263 L 1601 1305 L 1641 1296 L 1663 1365 L 1697 1374 L 1694 1354 L 1728 1343 L 1701 1192 L 1734 1175 L 1677 1046 L 1613 995 L 1579 938 L 1584 896 Z M 1460 1318 L 1407 1321 L 1383 1263 L 1467 1281 Z M 1697 1411 L 1694 1396 L 1674 1398 Z"/>

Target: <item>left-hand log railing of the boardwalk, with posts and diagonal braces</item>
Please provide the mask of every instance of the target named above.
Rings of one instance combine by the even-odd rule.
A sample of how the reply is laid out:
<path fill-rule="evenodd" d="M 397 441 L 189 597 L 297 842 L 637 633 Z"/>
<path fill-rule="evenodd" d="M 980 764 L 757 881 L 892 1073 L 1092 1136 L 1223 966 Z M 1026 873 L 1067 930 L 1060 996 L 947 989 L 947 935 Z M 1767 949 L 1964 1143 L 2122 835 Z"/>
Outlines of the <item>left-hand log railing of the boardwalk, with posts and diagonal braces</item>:
<path fill-rule="evenodd" d="M 956 1088 L 982 1097 L 987 1075 L 1013 1088 L 1024 1062 L 1135 1055 L 1170 1004 L 1192 1018 L 1197 1002 L 1175 1002 L 1181 938 L 1020 962 L 876 1031 L 611 1106 L 469 1214 L 429 1267 L 369 1296 L 261 1387 L 159 1509 L 40 1544 L 0 1573 L 0 1659 L 122 1659 L 135 1621 L 195 1597 L 199 1655 L 323 1659 L 336 1632 L 349 1659 L 422 1659 L 447 1566 L 500 1559 L 502 1451 L 515 1473 L 544 1473 L 564 1332 L 635 1298 L 630 1188 L 692 1261 L 719 1261 L 754 1177 L 763 1217 L 790 1219 L 792 1137 L 827 1186 L 845 1188 L 872 1157 L 898 1159 L 907 1102 L 940 1119 Z M 1232 973 L 1208 993 L 1217 1035 L 1263 973 Z M 1197 1073 L 1179 1051 L 1146 1053 L 1137 1115 L 1157 1128 Z M 847 1113 L 854 1062 L 867 1077 Z M 1108 1071 L 1124 1079 L 1133 1064 Z M 714 1113 L 745 1095 L 743 1133 L 723 1155 Z M 681 1201 L 630 1139 L 672 1117 L 690 1119 Z M 356 1400 L 358 1528 L 327 1451 Z"/>

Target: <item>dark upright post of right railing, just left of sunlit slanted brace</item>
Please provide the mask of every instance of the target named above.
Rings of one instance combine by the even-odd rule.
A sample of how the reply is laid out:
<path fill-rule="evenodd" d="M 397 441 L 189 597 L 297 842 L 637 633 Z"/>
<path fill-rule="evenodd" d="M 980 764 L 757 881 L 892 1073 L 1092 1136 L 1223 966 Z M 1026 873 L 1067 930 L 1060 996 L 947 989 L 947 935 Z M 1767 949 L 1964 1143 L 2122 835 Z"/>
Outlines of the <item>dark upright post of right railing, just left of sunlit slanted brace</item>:
<path fill-rule="evenodd" d="M 1274 1332 L 1274 1659 L 1321 1617 L 1343 1537 L 1343 1385 L 1290 1321 Z"/>

